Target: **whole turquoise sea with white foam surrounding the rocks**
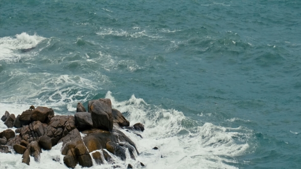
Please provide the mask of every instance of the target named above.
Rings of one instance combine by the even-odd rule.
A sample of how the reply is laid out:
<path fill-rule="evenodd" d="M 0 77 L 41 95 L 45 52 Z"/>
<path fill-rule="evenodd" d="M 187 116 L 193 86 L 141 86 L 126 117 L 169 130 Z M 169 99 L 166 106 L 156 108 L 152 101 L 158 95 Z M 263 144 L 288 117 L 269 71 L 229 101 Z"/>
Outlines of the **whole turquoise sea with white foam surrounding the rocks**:
<path fill-rule="evenodd" d="M 133 139 L 147 168 L 301 168 L 300 11 L 280 0 L 1 1 L 0 115 L 32 104 L 72 115 L 109 97 L 145 123 Z"/>

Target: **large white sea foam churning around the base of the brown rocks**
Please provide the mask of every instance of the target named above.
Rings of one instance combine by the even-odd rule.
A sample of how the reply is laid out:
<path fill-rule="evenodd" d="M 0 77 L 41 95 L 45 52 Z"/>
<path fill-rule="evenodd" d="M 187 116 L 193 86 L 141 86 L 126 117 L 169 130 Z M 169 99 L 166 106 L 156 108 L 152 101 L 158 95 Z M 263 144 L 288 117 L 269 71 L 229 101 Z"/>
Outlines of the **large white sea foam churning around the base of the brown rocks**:
<path fill-rule="evenodd" d="M 111 99 L 114 108 L 127 112 L 127 119 L 131 125 L 141 122 L 145 130 L 139 132 L 143 136 L 140 138 L 121 129 L 137 146 L 139 155 L 136 155 L 136 161 L 129 158 L 129 151 L 126 151 L 126 161 L 110 153 L 116 161 L 115 164 L 95 165 L 93 162 L 91 168 L 113 168 L 113 165 L 127 168 L 129 163 L 134 168 L 141 168 L 138 161 L 143 162 L 145 168 L 236 168 L 229 163 L 238 163 L 235 157 L 252 149 L 247 143 L 252 130 L 244 127 L 230 128 L 205 123 L 187 128 L 185 123 L 191 120 L 181 111 L 149 105 L 134 95 L 129 100 L 117 101 L 112 93 L 108 92 L 106 98 Z M 24 108 L 16 106 L 14 110 Z M 3 114 L 1 111 L 0 116 Z M 3 125 L 0 127 L 2 130 L 6 128 Z M 61 146 L 57 145 L 51 151 L 43 151 L 40 163 L 31 157 L 30 166 L 21 163 L 21 155 L 13 151 L 8 155 L 0 154 L 0 165 L 4 168 L 40 168 L 43 164 L 43 168 L 67 168 L 60 153 Z M 158 147 L 159 150 L 153 150 L 154 147 Z M 53 161 L 54 157 L 59 157 L 59 162 Z M 81 166 L 77 165 L 76 168 Z"/>

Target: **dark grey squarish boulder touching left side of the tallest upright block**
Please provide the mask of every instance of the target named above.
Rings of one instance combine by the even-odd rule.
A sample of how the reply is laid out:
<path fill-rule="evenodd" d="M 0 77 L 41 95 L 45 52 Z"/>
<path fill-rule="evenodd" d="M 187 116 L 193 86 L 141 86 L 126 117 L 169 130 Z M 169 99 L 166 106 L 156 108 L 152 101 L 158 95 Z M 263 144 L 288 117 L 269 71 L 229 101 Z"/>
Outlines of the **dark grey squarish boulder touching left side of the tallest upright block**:
<path fill-rule="evenodd" d="M 80 131 L 93 127 L 90 112 L 77 112 L 74 114 L 74 122 Z"/>

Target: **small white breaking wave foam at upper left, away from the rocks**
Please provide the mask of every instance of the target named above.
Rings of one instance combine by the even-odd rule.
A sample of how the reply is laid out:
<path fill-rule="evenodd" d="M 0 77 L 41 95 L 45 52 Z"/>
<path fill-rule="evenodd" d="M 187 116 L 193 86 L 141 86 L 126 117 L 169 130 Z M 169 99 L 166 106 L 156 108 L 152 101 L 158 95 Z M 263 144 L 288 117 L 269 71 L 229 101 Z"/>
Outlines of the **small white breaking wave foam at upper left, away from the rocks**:
<path fill-rule="evenodd" d="M 0 38 L 0 60 L 6 62 L 16 62 L 21 57 L 29 57 L 34 53 L 26 54 L 20 53 L 17 50 L 31 49 L 36 47 L 44 37 L 34 35 L 28 35 L 27 33 L 21 33 L 15 35 L 15 37 L 3 37 Z"/>

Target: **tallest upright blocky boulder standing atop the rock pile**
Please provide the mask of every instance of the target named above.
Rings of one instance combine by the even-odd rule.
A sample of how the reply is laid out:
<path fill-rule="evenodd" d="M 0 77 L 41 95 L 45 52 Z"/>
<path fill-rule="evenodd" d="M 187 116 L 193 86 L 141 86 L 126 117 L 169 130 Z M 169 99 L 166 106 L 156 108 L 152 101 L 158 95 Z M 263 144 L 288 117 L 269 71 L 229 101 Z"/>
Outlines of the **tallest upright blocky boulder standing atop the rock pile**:
<path fill-rule="evenodd" d="M 112 104 L 110 99 L 98 99 L 89 101 L 88 111 L 91 112 L 91 118 L 94 128 L 112 131 L 113 117 Z"/>

